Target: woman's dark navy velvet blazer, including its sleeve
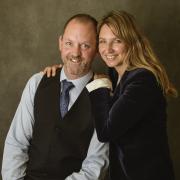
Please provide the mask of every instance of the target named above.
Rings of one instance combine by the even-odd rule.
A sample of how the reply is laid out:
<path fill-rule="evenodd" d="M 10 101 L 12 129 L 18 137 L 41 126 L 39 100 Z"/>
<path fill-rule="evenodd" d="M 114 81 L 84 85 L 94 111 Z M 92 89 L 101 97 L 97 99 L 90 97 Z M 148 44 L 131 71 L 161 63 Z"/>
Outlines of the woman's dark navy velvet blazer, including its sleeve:
<path fill-rule="evenodd" d="M 166 100 L 155 76 L 126 71 L 110 96 L 90 93 L 100 141 L 110 142 L 111 180 L 173 180 L 166 128 Z"/>

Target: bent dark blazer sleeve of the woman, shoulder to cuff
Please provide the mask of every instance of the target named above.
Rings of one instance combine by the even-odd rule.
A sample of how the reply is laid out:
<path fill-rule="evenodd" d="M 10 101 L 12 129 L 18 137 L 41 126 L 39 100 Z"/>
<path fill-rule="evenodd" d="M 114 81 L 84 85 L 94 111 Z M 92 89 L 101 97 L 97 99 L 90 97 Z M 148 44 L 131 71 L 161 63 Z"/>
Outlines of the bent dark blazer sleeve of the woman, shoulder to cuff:
<path fill-rule="evenodd" d="M 129 75 L 119 89 L 119 96 L 110 104 L 110 92 L 99 88 L 90 93 L 95 116 L 95 127 L 100 141 L 120 139 L 139 121 L 145 120 L 161 90 L 149 71 Z"/>

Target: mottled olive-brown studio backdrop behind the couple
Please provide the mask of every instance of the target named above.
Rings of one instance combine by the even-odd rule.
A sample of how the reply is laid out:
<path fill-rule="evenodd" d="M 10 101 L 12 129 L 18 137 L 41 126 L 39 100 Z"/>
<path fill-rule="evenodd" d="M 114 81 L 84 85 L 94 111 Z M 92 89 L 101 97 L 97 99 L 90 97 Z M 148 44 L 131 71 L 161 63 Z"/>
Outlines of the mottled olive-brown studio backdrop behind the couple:
<path fill-rule="evenodd" d="M 59 63 L 58 36 L 70 16 L 100 18 L 109 10 L 135 15 L 180 91 L 179 0 L 0 0 L 0 167 L 5 136 L 29 77 Z M 96 70 L 105 67 L 96 60 Z M 180 179 L 180 101 L 169 100 L 168 135 L 176 178 Z"/>

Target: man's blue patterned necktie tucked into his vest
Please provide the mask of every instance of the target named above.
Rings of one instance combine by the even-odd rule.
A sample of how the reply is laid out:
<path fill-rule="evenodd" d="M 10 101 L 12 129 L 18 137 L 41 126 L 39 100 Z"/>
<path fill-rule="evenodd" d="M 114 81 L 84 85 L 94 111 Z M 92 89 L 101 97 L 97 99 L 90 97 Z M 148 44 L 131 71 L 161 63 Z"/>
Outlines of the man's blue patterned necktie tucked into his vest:
<path fill-rule="evenodd" d="M 60 96 L 60 110 L 61 116 L 64 117 L 68 111 L 69 105 L 69 91 L 74 87 L 74 84 L 70 81 L 62 81 L 62 92 Z"/>

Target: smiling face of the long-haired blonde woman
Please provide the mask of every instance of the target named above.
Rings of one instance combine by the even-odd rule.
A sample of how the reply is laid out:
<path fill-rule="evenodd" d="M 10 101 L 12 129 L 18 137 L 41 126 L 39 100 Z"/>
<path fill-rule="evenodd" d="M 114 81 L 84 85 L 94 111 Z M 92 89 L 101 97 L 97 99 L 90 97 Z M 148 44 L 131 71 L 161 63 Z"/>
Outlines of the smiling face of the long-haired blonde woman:
<path fill-rule="evenodd" d="M 124 66 L 126 52 L 125 43 L 104 24 L 99 33 L 99 53 L 106 65 L 118 71 Z"/>

